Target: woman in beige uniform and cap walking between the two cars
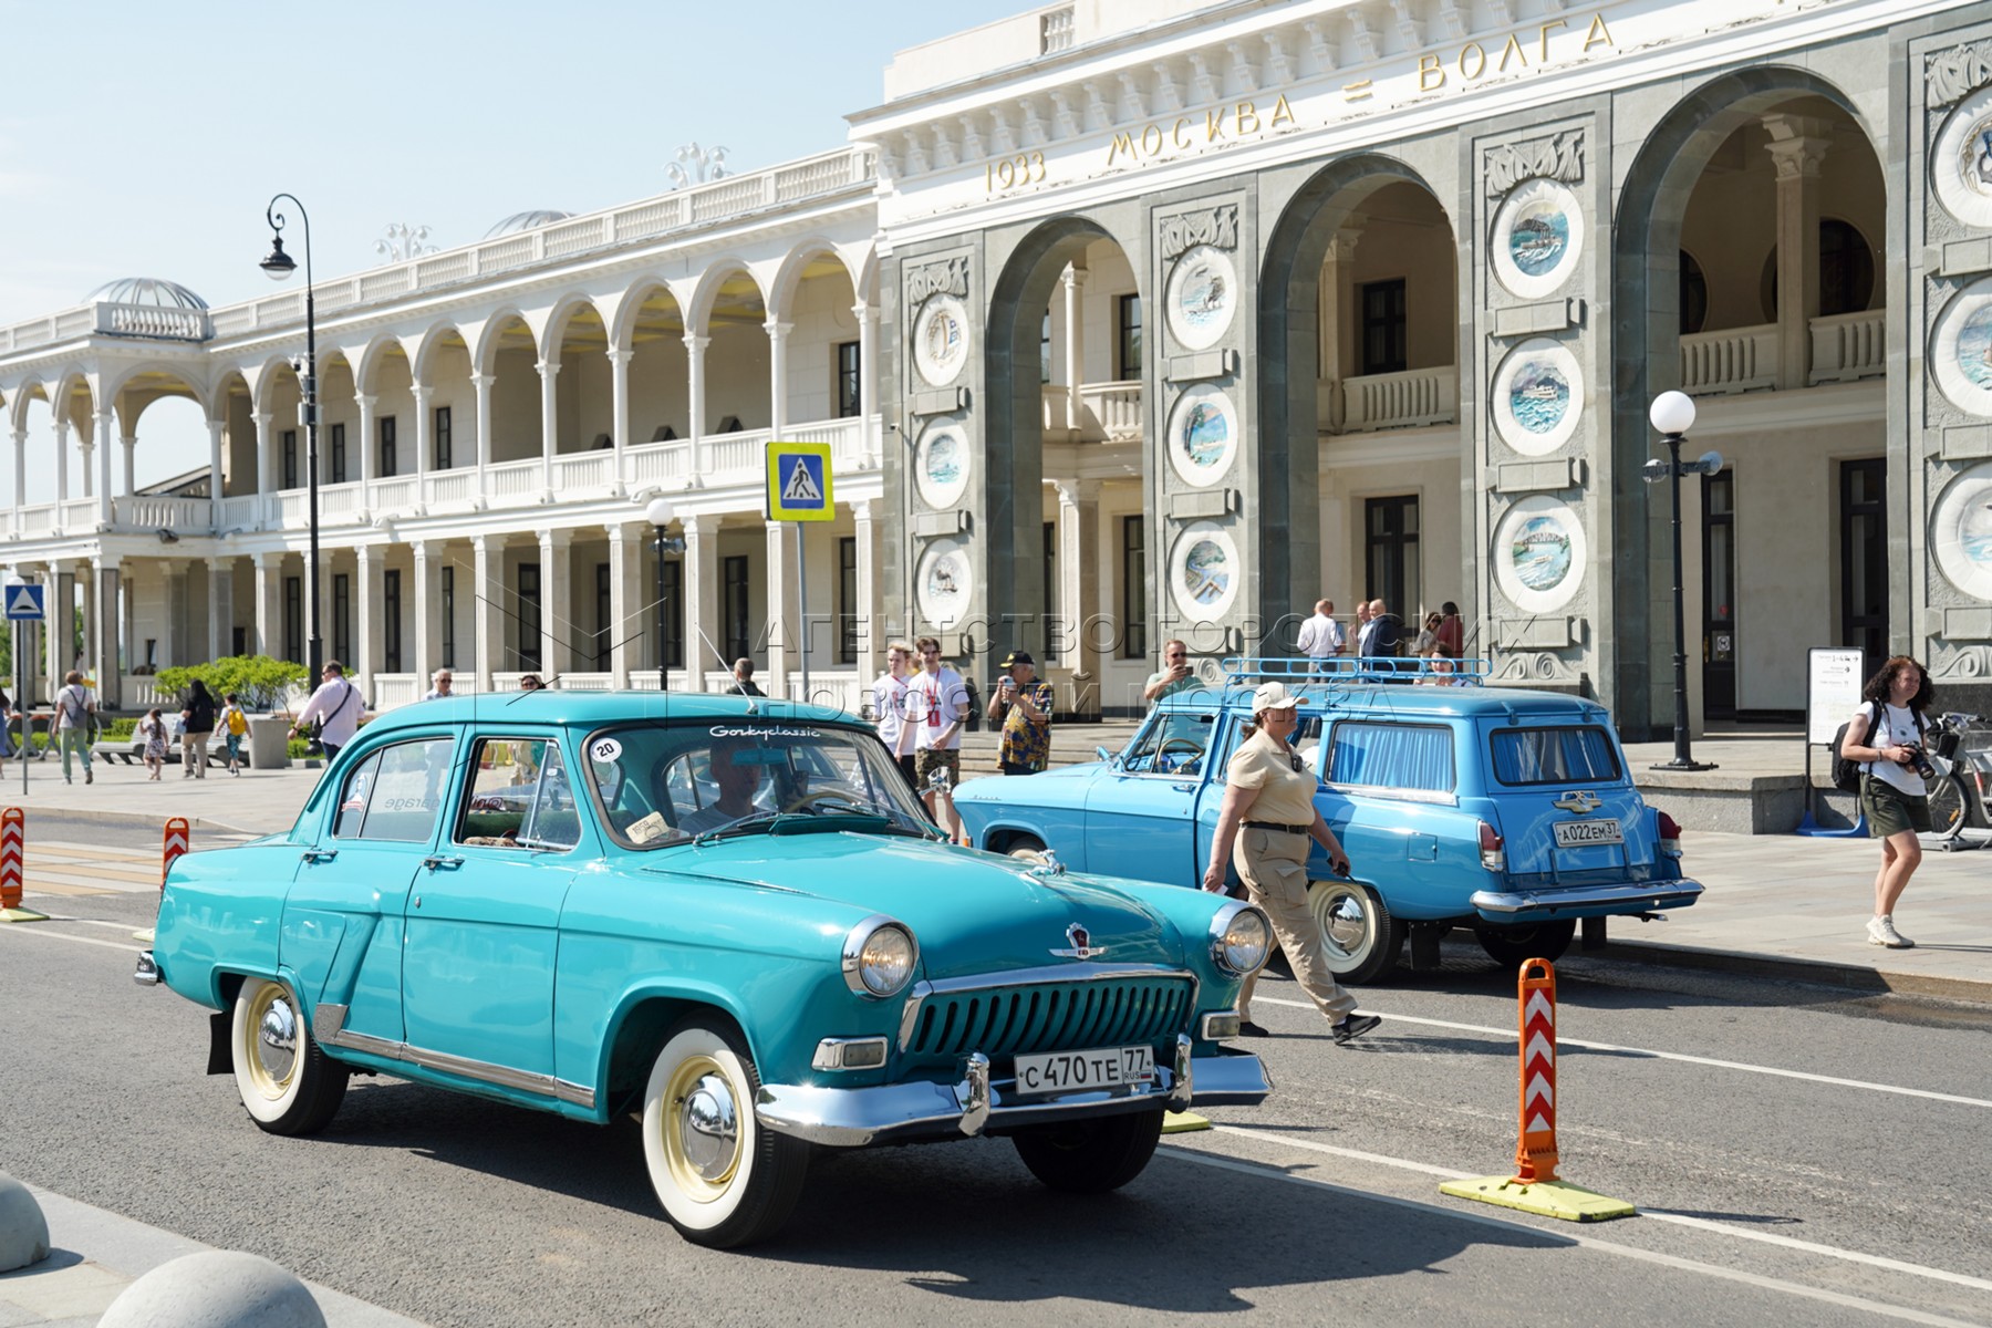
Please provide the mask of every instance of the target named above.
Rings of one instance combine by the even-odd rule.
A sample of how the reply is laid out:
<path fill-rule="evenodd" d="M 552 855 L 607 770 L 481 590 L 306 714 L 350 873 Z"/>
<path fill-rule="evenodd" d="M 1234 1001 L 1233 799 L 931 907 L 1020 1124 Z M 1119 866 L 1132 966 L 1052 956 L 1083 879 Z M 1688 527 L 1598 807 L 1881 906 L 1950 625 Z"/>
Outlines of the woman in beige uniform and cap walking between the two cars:
<path fill-rule="evenodd" d="M 1301 723 L 1301 697 L 1289 697 L 1283 683 L 1259 683 L 1251 697 L 1253 735 L 1225 767 L 1225 800 L 1217 810 L 1217 832 L 1211 836 L 1211 866 L 1203 872 L 1203 888 L 1225 890 L 1225 862 L 1237 846 L 1239 876 L 1251 902 L 1273 920 L 1273 936 L 1287 952 L 1293 980 L 1321 1005 L 1329 1017 L 1335 1041 L 1343 1043 L 1370 1031 L 1382 1019 L 1359 1015 L 1357 997 L 1335 984 L 1321 958 L 1321 928 L 1307 910 L 1307 844 L 1319 842 L 1329 852 L 1329 866 L 1349 874 L 1349 854 L 1335 830 L 1315 808 L 1315 775 L 1287 743 Z M 1241 834 L 1243 830 L 1243 834 Z M 1239 1017 L 1247 1037 L 1265 1037 L 1251 1021 L 1251 992 L 1257 974 L 1239 990 Z"/>

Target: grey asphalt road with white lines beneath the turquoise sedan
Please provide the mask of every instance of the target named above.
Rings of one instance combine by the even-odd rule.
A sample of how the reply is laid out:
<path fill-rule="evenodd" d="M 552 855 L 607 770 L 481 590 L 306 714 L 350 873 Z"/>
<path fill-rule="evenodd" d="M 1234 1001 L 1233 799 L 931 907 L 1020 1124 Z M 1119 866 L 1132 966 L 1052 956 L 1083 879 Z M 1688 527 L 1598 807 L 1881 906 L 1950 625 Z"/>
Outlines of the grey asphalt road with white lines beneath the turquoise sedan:
<path fill-rule="evenodd" d="M 1277 1095 L 1120 1195 L 1004 1141 L 821 1155 L 783 1236 L 715 1254 L 627 1121 L 357 1079 L 263 1135 L 205 1013 L 129 982 L 151 908 L 0 928 L 0 1171 L 432 1324 L 1992 1322 L 1992 1009 L 1568 960 L 1564 1175 L 1641 1209 L 1576 1226 L 1438 1193 L 1512 1163 L 1510 974 L 1448 948 L 1357 1047 L 1269 980 Z"/>

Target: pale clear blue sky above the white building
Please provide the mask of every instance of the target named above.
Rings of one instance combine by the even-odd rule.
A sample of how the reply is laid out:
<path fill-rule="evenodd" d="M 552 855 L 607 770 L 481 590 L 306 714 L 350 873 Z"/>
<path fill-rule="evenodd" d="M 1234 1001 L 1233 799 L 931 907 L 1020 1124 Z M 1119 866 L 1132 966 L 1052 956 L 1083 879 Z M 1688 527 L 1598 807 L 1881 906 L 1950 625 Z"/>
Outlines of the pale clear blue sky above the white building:
<path fill-rule="evenodd" d="M 845 113 L 880 102 L 894 50 L 1030 8 L 0 0 L 0 325 L 116 277 L 179 281 L 209 305 L 261 295 L 281 189 L 311 211 L 317 275 L 335 277 L 380 263 L 388 223 L 450 249 L 516 211 L 663 193 L 683 143 L 725 145 L 735 171 L 827 151 Z M 187 452 L 145 446 L 169 410 L 147 410 L 139 484 L 205 462 L 197 428 Z M 30 502 L 52 496 L 38 488 Z"/>

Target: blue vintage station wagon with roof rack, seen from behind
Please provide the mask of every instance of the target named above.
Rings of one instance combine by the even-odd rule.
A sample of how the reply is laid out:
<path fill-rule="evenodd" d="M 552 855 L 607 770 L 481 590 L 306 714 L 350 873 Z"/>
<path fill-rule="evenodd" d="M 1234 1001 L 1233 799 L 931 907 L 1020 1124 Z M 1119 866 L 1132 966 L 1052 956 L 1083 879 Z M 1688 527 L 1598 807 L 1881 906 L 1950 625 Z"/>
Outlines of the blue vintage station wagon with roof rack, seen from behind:
<path fill-rule="evenodd" d="M 1281 679 L 1307 699 L 1295 745 L 1321 780 L 1315 804 L 1353 878 L 1313 848 L 1309 898 L 1329 966 L 1374 982 L 1438 962 L 1438 938 L 1474 930 L 1504 964 L 1554 960 L 1576 922 L 1685 908 L 1679 828 L 1645 804 L 1596 701 L 1486 687 L 1486 667 L 1424 661 L 1233 659 L 1211 687 L 1165 697 L 1096 765 L 980 778 L 954 792 L 992 852 L 1173 886 L 1209 862 L 1225 763 L 1251 725 L 1251 689 Z M 1235 876 L 1233 876 L 1235 880 Z"/>

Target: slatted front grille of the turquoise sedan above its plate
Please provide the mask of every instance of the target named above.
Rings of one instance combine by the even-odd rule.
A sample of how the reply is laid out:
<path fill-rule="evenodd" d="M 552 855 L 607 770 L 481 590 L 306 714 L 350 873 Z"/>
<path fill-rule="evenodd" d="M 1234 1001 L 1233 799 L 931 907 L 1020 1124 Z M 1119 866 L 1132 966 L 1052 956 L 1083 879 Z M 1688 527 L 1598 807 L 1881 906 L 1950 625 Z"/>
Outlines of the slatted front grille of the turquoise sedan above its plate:
<path fill-rule="evenodd" d="M 1018 1055 L 1159 1041 L 1189 1027 L 1187 976 L 932 992 L 908 1011 L 906 1055 Z"/>

